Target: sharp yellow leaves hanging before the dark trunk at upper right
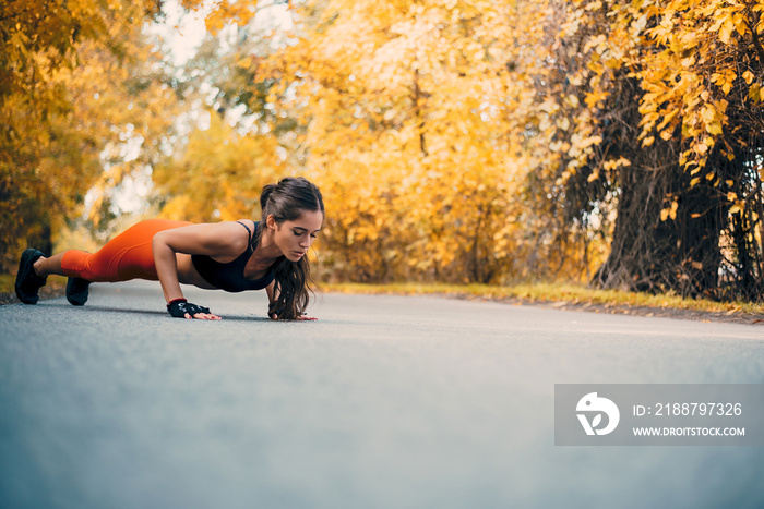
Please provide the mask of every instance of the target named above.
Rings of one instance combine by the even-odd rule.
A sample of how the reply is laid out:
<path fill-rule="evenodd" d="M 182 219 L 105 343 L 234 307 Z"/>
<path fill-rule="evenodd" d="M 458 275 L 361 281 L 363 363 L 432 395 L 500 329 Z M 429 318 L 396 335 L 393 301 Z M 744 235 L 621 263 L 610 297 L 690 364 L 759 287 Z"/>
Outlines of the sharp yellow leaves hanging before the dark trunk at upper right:
<path fill-rule="evenodd" d="M 764 58 L 764 2 L 623 1 L 607 11 L 601 2 L 574 4 L 577 9 L 561 34 L 571 37 L 577 32 L 588 37 L 583 46 L 584 52 L 590 51 L 587 106 L 596 104 L 595 97 L 606 97 L 617 75 L 628 72 L 644 90 L 640 98 L 642 147 L 652 149 L 656 137 L 679 141 L 683 150 L 678 161 L 692 175 L 690 186 L 703 182 L 719 186 L 723 179 L 706 167 L 708 156 L 718 144 L 732 159 L 733 143 L 726 137 L 741 132 L 741 126 L 730 125 L 728 96 L 738 87 L 750 107 L 761 111 L 761 76 L 756 78 L 754 71 L 761 69 Z M 587 27 L 597 23 L 604 24 L 604 33 L 587 36 Z M 586 129 L 585 122 L 577 125 L 577 131 Z M 588 160 L 584 148 L 570 155 Z M 596 178 L 595 171 L 589 179 Z M 742 208 L 740 201 L 729 203 L 731 213 Z M 676 219 L 677 206 L 669 201 L 661 219 Z"/>

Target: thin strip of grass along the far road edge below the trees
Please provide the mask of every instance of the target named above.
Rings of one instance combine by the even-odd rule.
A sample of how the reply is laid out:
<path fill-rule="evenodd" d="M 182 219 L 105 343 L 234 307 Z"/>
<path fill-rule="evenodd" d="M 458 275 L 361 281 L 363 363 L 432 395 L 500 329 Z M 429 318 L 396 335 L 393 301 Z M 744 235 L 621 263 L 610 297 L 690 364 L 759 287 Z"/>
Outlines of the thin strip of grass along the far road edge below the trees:
<path fill-rule="evenodd" d="M 404 295 L 445 294 L 454 296 L 512 300 L 524 302 L 553 302 L 571 305 L 593 304 L 604 306 L 654 307 L 690 310 L 727 314 L 764 314 L 764 304 L 750 302 L 713 302 L 707 300 L 682 299 L 671 294 L 634 293 L 618 290 L 595 290 L 575 284 L 536 283 L 512 287 L 492 287 L 487 284 L 359 284 L 325 283 L 322 290 L 343 293 L 391 293 Z"/>

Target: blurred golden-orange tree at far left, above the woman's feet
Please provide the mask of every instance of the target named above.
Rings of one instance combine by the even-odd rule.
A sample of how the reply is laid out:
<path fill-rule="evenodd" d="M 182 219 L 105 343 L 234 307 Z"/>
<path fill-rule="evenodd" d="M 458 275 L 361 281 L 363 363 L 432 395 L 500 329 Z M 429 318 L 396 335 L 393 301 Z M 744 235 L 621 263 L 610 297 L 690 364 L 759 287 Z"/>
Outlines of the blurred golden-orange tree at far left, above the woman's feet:
<path fill-rule="evenodd" d="M 49 252 L 93 186 L 156 162 L 177 104 L 144 43 L 152 0 L 11 0 L 0 7 L 0 270 Z M 104 172 L 105 171 L 105 172 Z M 108 210 L 102 192 L 95 222 Z M 106 217 L 108 218 L 108 217 Z M 106 223 L 106 221 L 104 221 Z"/>

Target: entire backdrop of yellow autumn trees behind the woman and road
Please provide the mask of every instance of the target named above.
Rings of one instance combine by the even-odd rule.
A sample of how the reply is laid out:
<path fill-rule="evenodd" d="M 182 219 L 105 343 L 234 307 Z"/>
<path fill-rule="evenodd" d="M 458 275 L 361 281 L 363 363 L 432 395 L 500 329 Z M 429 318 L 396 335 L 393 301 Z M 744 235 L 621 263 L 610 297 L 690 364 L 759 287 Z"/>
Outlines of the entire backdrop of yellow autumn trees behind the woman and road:
<path fill-rule="evenodd" d="M 162 2 L 50 4 L 0 8 L 5 269 L 126 179 L 214 221 L 303 174 L 325 279 L 764 294 L 762 0 L 218 0 L 183 63 Z"/>

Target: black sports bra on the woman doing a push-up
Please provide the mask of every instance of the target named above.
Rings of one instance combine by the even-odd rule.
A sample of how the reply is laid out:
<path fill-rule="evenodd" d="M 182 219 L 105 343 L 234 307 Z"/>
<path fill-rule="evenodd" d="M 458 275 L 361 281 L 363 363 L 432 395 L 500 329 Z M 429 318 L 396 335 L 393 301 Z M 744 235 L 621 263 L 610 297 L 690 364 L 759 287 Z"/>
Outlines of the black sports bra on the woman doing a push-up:
<path fill-rule="evenodd" d="M 252 253 L 254 253 L 254 246 L 252 245 L 252 232 L 243 222 L 236 222 L 247 228 L 247 232 L 249 233 L 249 245 L 247 246 L 247 251 L 241 253 L 241 255 L 234 262 L 227 264 L 215 262 L 207 255 L 191 255 L 191 263 L 206 282 L 215 288 L 219 288 L 220 290 L 225 290 L 227 292 L 262 290 L 271 284 L 275 277 L 275 272 L 271 270 L 260 279 L 247 279 L 244 277 L 244 266 L 247 265 L 247 262 L 249 262 L 250 256 L 252 256 Z M 258 222 L 254 223 L 255 229 L 258 228 Z"/>

